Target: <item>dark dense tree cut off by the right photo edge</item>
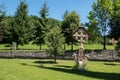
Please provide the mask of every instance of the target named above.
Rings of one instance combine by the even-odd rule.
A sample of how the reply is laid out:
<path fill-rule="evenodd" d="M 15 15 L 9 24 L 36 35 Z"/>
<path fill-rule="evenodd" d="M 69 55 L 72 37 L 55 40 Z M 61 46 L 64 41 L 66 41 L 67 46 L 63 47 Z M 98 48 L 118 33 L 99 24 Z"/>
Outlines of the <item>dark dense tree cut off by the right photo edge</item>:
<path fill-rule="evenodd" d="M 110 37 L 120 38 L 120 0 L 113 0 L 113 11 L 110 19 Z"/>

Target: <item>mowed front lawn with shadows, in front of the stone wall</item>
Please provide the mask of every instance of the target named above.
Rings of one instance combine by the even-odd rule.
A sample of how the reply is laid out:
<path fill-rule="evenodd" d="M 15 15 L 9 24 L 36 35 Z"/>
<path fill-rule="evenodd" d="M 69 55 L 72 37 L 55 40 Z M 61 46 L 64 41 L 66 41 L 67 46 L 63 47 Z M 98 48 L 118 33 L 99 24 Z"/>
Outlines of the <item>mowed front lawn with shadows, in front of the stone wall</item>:
<path fill-rule="evenodd" d="M 0 80 L 119 80 L 119 62 L 89 61 L 85 71 L 73 60 L 0 59 Z"/>

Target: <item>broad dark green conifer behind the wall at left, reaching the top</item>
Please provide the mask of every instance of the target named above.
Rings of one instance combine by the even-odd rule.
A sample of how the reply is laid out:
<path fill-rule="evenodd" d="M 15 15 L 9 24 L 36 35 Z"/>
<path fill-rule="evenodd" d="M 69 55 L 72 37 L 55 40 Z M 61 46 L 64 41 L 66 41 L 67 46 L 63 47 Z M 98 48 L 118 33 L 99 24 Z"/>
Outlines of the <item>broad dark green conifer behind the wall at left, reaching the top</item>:
<path fill-rule="evenodd" d="M 14 34 L 13 41 L 18 45 L 25 44 L 29 42 L 31 37 L 31 22 L 28 17 L 28 6 L 25 1 L 20 1 L 20 5 L 17 8 L 15 13 L 15 24 L 13 26 Z"/>

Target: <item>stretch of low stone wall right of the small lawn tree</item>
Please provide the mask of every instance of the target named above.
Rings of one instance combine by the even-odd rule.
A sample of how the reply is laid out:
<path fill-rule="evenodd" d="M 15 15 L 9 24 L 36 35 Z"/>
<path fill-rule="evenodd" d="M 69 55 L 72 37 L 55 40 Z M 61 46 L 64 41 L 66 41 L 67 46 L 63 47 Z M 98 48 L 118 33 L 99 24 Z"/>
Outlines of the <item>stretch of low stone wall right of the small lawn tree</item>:
<path fill-rule="evenodd" d="M 75 51 L 66 51 L 64 55 L 65 58 L 70 59 L 72 53 L 76 53 Z M 85 56 L 89 60 L 97 60 L 97 61 L 120 61 L 120 56 L 118 56 L 118 52 L 115 50 L 84 50 Z"/>

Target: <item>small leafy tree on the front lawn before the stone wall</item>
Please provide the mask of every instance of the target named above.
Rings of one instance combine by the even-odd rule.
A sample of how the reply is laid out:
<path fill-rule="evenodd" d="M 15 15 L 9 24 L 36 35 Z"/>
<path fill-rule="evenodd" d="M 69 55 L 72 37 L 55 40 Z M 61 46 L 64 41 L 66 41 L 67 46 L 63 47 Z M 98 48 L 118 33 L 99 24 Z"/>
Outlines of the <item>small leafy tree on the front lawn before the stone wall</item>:
<path fill-rule="evenodd" d="M 48 46 L 48 53 L 54 55 L 54 62 L 56 63 L 56 57 L 58 54 L 63 53 L 62 44 L 65 42 L 63 35 L 61 34 L 61 30 L 59 27 L 54 27 L 46 34 L 45 37 L 46 44 Z"/>

